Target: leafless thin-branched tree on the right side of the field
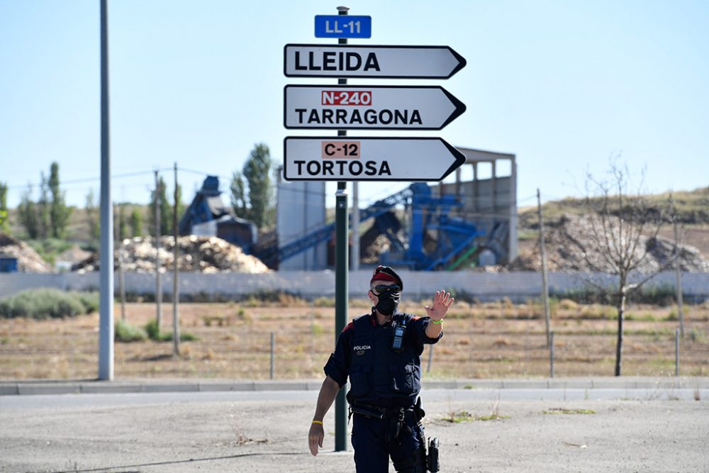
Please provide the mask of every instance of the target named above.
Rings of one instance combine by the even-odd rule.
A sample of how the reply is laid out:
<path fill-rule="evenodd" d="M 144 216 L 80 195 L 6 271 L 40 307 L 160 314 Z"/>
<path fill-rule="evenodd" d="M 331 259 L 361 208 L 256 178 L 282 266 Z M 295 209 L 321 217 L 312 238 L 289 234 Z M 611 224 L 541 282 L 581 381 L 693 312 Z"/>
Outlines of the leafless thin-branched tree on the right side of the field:
<path fill-rule="evenodd" d="M 613 289 L 602 288 L 618 310 L 618 340 L 615 347 L 615 376 L 620 376 L 623 361 L 623 322 L 628 296 L 640 289 L 649 279 L 668 267 L 674 258 L 652 272 L 631 282 L 630 275 L 641 267 L 665 220 L 665 208 L 652 205 L 643 196 L 642 183 L 634 187 L 627 165 L 611 160 L 608 175 L 597 179 L 590 173 L 586 177 L 588 211 L 588 240 L 597 250 L 584 255 L 588 265 L 598 272 L 613 274 L 617 284 Z"/>

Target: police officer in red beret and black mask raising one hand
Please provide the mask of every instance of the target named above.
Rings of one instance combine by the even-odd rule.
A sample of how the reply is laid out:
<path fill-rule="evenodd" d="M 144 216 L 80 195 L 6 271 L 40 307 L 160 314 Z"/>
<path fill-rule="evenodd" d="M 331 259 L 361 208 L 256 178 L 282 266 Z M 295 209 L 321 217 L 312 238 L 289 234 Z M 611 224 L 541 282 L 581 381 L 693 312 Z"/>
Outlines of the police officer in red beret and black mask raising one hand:
<path fill-rule="evenodd" d="M 386 473 L 389 457 L 397 472 L 426 471 L 425 437 L 417 403 L 421 353 L 425 343 L 437 343 L 442 323 L 454 299 L 436 291 L 428 317 L 396 309 L 403 282 L 390 267 L 379 266 L 369 284 L 372 313 L 360 316 L 340 333 L 335 352 L 325 365 L 308 442 L 313 455 L 323 446 L 323 418 L 337 391 L 350 377 L 347 402 L 352 416 L 352 447 L 358 473 Z"/>

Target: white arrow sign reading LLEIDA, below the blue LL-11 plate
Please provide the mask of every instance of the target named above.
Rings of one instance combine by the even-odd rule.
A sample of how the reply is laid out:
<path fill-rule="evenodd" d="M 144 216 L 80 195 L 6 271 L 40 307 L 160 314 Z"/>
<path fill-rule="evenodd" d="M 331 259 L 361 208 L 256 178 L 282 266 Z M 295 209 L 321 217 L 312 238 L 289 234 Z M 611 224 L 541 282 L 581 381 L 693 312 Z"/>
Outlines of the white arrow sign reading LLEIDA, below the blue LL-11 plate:
<path fill-rule="evenodd" d="M 303 45 L 284 47 L 286 77 L 447 79 L 465 67 L 448 46 Z"/>

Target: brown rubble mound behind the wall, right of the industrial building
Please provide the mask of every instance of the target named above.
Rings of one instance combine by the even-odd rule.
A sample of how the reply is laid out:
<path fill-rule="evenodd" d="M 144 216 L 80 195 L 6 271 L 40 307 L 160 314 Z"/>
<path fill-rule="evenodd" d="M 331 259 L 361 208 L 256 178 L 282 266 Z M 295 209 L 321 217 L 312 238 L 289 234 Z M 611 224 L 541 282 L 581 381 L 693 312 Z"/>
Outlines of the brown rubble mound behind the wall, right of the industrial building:
<path fill-rule="evenodd" d="M 596 243 L 605 236 L 613 241 L 617 235 L 618 221 L 610 221 L 603 235 L 603 226 L 598 219 L 589 216 L 566 216 L 558 226 L 545 228 L 545 250 L 547 252 L 547 268 L 551 272 L 601 271 L 615 272 L 613 265 L 603 253 L 603 245 Z M 613 230 L 616 231 L 613 231 Z M 611 235 L 613 233 L 613 235 Z M 631 238 L 632 240 L 632 238 Z M 627 242 L 626 242 L 627 244 Z M 632 247 L 632 242 L 631 246 Z M 667 266 L 674 257 L 674 241 L 663 237 L 648 238 L 640 235 L 637 238 L 634 260 L 642 262 L 637 272 L 652 273 L 661 269 L 674 269 L 674 263 Z M 679 245 L 679 264 L 684 272 L 709 272 L 709 261 L 703 259 L 699 250 L 688 245 Z M 530 251 L 519 255 L 508 265 L 510 271 L 541 271 L 542 256 L 539 243 Z"/>

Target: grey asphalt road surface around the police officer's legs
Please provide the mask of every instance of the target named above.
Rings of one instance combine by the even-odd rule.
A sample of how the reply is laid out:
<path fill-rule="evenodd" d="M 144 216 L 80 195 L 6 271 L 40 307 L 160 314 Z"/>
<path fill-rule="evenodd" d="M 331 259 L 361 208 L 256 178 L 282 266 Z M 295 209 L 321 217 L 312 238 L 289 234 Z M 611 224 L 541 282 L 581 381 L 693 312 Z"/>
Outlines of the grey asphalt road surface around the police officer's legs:
<path fill-rule="evenodd" d="M 333 452 L 331 413 L 323 451 L 309 454 L 316 396 L 0 396 L 0 472 L 354 471 L 352 452 Z M 423 396 L 426 433 L 442 443 L 442 472 L 709 472 L 706 389 L 428 389 Z M 462 411 L 502 418 L 443 420 Z"/>

